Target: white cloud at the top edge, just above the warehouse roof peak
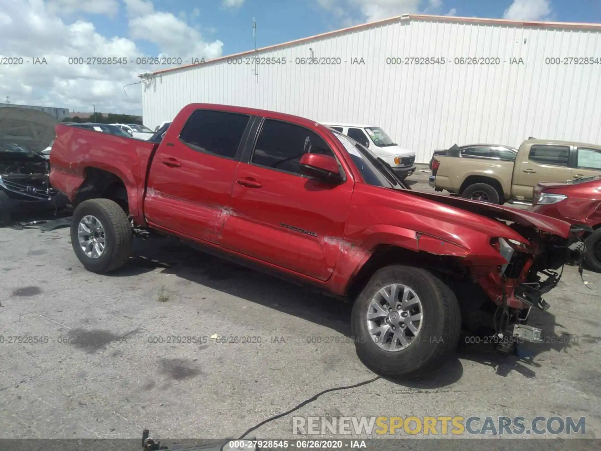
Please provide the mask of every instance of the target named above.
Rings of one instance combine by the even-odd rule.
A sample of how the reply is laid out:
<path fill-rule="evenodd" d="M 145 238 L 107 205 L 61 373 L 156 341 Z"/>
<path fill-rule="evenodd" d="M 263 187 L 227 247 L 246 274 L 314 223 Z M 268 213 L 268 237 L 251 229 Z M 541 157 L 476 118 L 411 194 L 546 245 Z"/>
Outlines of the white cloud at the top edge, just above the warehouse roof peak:
<path fill-rule="evenodd" d="M 317 0 L 317 4 L 338 19 L 347 22 L 351 17 L 349 11 L 358 11 L 365 22 L 375 22 L 406 13 L 442 13 L 442 0 Z M 422 6 L 424 8 L 420 10 Z M 457 11 L 453 9 L 449 11 L 451 12 L 454 14 Z"/>

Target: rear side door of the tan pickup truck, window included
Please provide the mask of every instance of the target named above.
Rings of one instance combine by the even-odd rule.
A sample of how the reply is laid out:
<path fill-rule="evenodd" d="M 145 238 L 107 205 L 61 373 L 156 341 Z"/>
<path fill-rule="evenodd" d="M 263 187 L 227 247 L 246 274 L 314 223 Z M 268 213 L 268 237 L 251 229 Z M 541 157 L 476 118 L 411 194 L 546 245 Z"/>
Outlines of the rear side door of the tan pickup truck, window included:
<path fill-rule="evenodd" d="M 531 200 L 538 182 L 566 182 L 572 179 L 569 167 L 570 146 L 528 144 L 529 149 L 516 160 L 511 193 L 519 200 Z"/>

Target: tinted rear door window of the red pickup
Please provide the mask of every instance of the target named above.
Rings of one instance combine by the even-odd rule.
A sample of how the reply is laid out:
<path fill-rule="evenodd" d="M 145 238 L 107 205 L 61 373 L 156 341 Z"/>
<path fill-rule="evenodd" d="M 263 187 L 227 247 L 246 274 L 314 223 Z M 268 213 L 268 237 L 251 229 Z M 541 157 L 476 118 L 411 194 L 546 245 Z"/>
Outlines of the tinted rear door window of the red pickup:
<path fill-rule="evenodd" d="M 234 158 L 249 116 L 197 109 L 186 122 L 180 140 L 194 150 Z"/>

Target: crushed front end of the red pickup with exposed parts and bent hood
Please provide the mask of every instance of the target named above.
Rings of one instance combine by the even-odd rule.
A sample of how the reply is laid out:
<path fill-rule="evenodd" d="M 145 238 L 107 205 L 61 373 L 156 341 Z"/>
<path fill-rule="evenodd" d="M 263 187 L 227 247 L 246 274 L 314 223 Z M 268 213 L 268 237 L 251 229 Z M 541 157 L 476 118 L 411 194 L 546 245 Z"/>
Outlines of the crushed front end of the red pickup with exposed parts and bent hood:
<path fill-rule="evenodd" d="M 520 342 L 543 342 L 542 330 L 526 325 L 529 313 L 532 308 L 549 309 L 544 296 L 557 286 L 566 264 L 578 266 L 582 275 L 584 237 L 590 227 L 461 198 L 415 195 L 495 219 L 518 234 L 514 238 L 520 239 L 490 239 L 504 264 L 491 266 L 468 257 L 463 277 L 450 286 L 460 300 L 464 327 L 492 337 L 489 342 L 498 351 L 512 354 Z"/>

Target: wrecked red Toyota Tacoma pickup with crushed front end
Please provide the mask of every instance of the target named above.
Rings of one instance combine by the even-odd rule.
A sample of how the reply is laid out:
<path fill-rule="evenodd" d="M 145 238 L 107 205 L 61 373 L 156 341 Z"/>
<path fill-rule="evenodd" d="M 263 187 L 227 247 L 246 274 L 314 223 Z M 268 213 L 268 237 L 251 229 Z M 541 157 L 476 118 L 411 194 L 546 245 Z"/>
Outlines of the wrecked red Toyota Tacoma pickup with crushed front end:
<path fill-rule="evenodd" d="M 76 207 L 73 250 L 89 271 L 125 265 L 133 229 L 338 298 L 374 371 L 419 378 L 463 322 L 497 346 L 540 341 L 525 321 L 557 285 L 573 239 L 559 219 L 416 192 L 370 150 L 305 118 L 191 104 L 160 143 L 56 126 L 50 181 Z M 541 277 L 544 274 L 544 277 Z"/>

